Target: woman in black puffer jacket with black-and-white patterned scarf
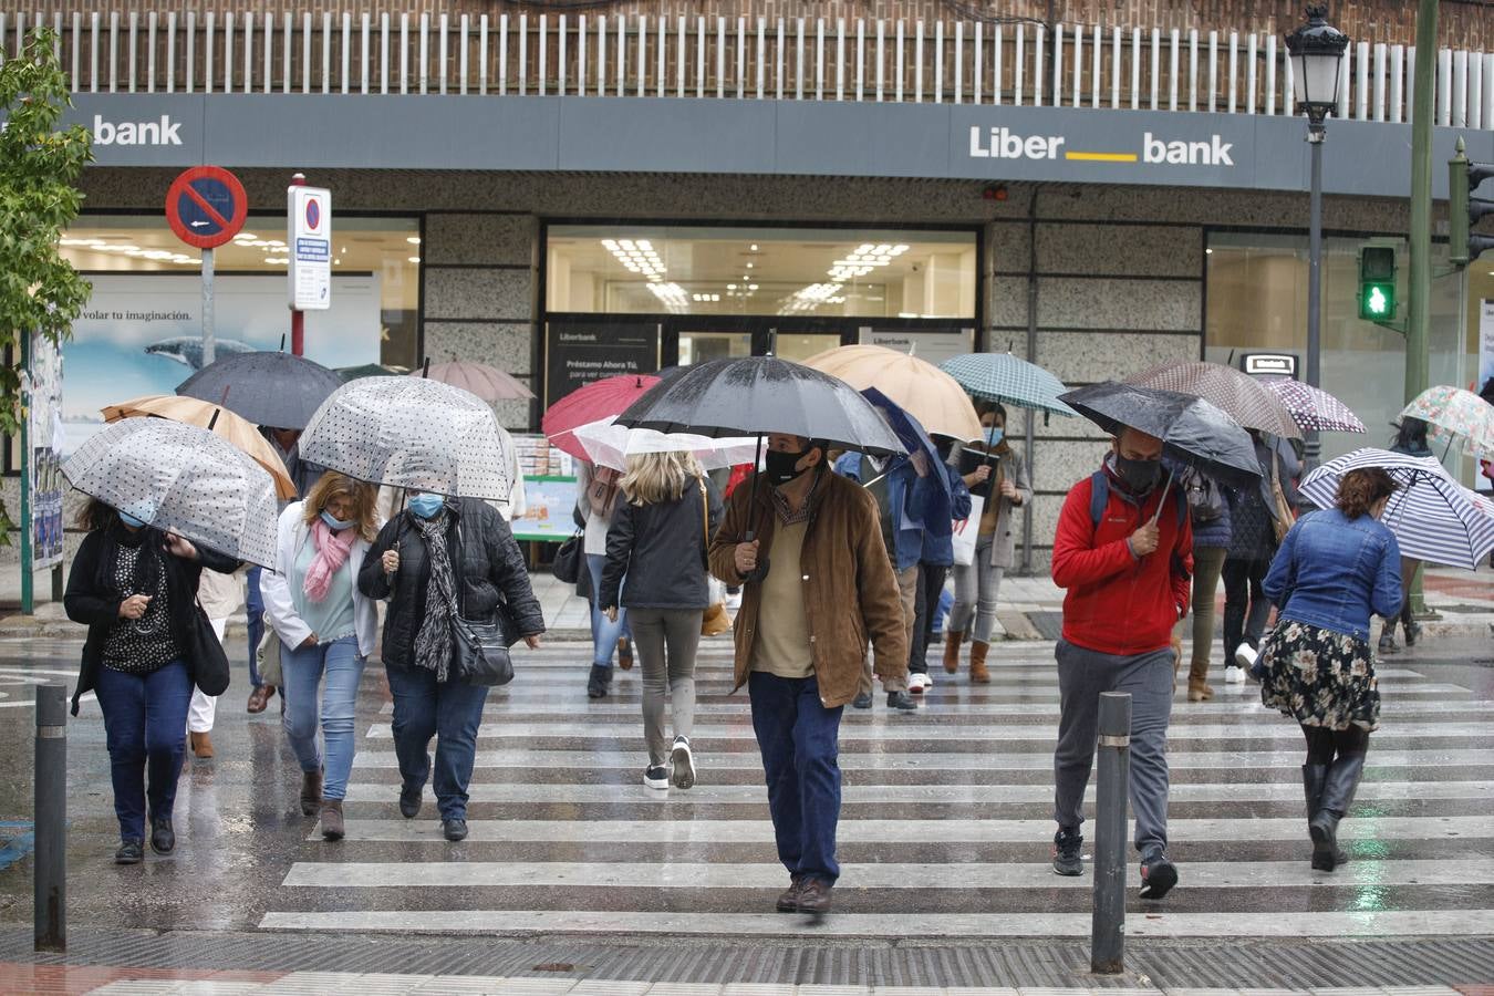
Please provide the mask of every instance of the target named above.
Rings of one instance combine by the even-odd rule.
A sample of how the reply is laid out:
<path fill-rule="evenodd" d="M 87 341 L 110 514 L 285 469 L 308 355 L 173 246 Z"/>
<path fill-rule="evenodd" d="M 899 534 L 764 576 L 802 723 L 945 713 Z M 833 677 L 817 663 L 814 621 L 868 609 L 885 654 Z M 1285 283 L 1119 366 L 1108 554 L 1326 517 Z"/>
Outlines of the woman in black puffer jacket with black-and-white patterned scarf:
<path fill-rule="evenodd" d="M 451 621 L 492 620 L 509 639 L 539 647 L 545 632 L 539 602 L 508 523 L 475 499 L 411 493 L 408 508 L 379 530 L 363 558 L 359 590 L 388 599 L 384 669 L 394 697 L 394 756 L 403 785 L 399 811 L 420 812 L 430 776 L 448 841 L 466 836 L 468 784 L 477 757 L 486 685 L 454 672 Z M 430 738 L 436 739 L 435 774 Z"/>

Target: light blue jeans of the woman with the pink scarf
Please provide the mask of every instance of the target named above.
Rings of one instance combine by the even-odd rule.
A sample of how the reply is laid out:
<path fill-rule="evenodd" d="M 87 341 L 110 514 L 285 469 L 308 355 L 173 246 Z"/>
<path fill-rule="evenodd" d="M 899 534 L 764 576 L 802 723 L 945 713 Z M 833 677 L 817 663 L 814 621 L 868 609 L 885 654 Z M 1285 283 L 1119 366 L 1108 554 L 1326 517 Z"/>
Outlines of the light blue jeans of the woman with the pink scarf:
<path fill-rule="evenodd" d="M 348 772 L 353 771 L 353 753 L 357 747 L 353 715 L 359 700 L 359 681 L 363 678 L 359 638 L 344 636 L 305 650 L 282 650 L 281 670 L 285 672 L 285 715 L 281 723 L 285 724 L 285 738 L 296 751 L 302 771 L 323 768 L 321 750 L 317 747 L 317 688 L 321 676 L 327 676 L 321 693 L 321 736 L 327 742 L 321 797 L 342 799 L 348 794 Z"/>

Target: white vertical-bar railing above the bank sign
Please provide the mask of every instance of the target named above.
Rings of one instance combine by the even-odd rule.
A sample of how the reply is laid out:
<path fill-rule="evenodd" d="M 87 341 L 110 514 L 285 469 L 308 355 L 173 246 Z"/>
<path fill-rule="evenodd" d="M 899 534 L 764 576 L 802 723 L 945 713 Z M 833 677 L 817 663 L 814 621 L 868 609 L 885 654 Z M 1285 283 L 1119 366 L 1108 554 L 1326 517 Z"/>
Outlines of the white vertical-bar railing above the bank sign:
<path fill-rule="evenodd" d="M 79 93 L 735 97 L 1286 113 L 1274 34 L 846 18 L 193 10 L 45 21 Z M 1415 48 L 1352 45 L 1339 116 L 1409 119 Z M 1437 124 L 1494 128 L 1494 54 L 1437 52 Z"/>

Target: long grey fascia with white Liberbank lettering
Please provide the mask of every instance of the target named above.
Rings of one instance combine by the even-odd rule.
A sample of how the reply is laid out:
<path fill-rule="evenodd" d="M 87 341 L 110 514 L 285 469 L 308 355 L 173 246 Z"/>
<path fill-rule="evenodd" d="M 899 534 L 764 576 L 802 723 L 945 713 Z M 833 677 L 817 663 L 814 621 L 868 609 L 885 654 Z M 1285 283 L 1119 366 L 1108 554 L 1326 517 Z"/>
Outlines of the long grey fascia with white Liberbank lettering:
<path fill-rule="evenodd" d="M 76 94 L 97 166 L 893 176 L 1304 191 L 1265 115 L 814 100 Z M 1466 131 L 1494 160 L 1494 131 Z M 1458 131 L 1439 128 L 1436 160 Z M 1446 197 L 1446 170 L 1433 170 Z M 1406 197 L 1410 128 L 1331 121 L 1324 188 Z"/>

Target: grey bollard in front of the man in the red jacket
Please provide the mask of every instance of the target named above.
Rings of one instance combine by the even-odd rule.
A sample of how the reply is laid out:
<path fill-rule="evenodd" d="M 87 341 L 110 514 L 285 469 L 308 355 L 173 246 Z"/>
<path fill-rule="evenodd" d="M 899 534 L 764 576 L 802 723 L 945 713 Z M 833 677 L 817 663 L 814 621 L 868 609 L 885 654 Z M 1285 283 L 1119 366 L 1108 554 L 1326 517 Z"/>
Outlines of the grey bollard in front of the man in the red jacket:
<path fill-rule="evenodd" d="M 1125 971 L 1125 805 L 1131 781 L 1131 694 L 1100 696 L 1100 784 L 1095 787 L 1095 914 L 1089 971 Z"/>

